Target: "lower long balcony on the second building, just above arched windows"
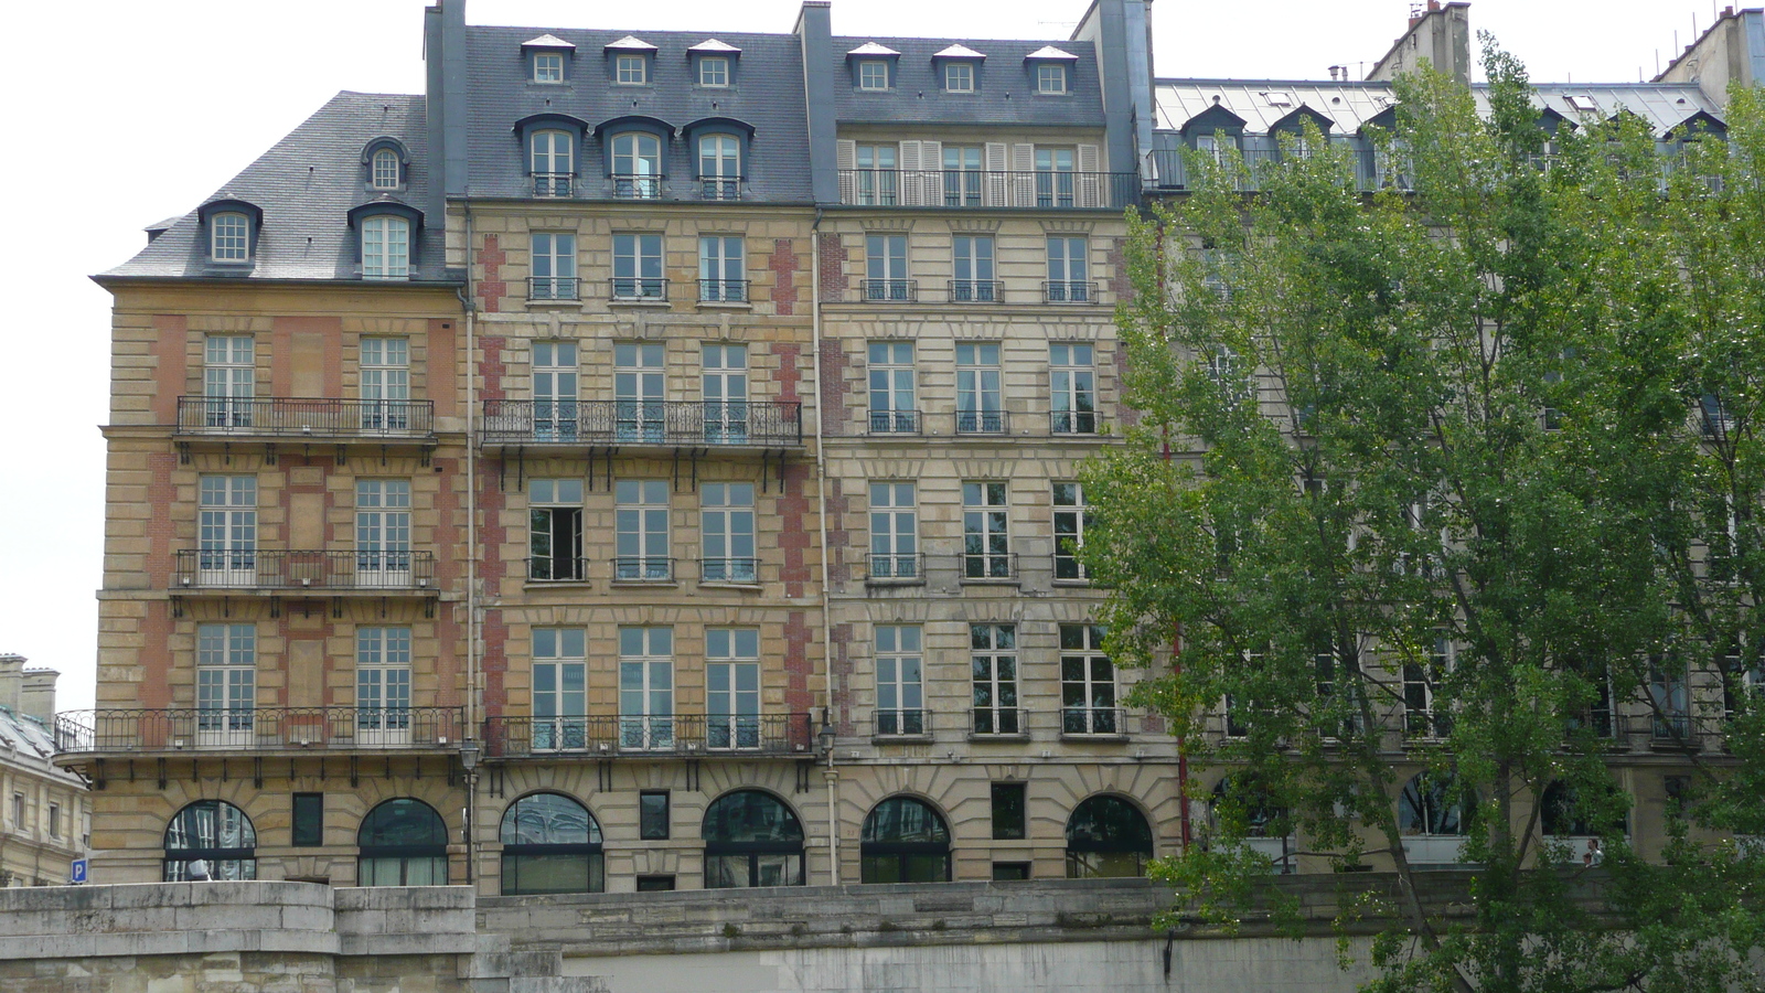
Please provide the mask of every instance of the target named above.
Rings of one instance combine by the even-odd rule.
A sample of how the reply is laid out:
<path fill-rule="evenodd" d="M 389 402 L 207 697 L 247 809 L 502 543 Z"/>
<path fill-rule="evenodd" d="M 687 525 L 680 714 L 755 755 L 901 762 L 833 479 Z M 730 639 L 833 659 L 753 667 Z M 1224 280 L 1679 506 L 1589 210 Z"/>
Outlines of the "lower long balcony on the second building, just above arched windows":
<path fill-rule="evenodd" d="M 485 758 L 812 756 L 808 714 L 489 717 Z"/>

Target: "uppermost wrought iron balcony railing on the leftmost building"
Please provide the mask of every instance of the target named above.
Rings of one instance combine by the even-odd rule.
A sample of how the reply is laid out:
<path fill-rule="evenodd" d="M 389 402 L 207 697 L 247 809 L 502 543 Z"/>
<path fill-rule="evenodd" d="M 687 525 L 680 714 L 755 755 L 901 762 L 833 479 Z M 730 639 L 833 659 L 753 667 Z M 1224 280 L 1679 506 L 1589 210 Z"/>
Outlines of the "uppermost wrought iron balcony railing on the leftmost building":
<path fill-rule="evenodd" d="M 180 396 L 178 435 L 312 440 L 434 436 L 427 399 L 307 399 L 289 396 Z"/>

